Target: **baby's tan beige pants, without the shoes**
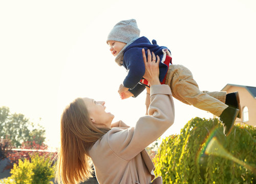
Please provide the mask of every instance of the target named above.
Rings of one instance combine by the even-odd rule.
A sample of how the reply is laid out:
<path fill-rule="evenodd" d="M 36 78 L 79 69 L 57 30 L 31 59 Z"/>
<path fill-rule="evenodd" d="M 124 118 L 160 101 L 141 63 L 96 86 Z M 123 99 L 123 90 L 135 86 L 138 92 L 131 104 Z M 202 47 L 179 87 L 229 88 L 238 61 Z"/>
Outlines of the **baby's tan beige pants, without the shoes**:
<path fill-rule="evenodd" d="M 220 117 L 228 105 L 225 104 L 225 91 L 200 91 L 192 73 L 183 65 L 170 65 L 165 84 L 170 86 L 177 100 L 206 110 Z"/>

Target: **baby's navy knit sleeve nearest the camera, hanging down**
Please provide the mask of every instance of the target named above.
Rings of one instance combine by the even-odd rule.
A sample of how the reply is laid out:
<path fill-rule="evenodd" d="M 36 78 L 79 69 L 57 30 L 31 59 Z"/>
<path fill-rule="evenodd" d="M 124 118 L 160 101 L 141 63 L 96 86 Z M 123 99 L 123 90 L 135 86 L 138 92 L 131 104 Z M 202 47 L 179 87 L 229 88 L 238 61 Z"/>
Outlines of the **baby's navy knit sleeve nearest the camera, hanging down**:
<path fill-rule="evenodd" d="M 133 89 L 145 74 L 142 48 L 131 48 L 124 53 L 123 60 L 127 67 L 127 76 L 123 81 L 124 87 Z"/>

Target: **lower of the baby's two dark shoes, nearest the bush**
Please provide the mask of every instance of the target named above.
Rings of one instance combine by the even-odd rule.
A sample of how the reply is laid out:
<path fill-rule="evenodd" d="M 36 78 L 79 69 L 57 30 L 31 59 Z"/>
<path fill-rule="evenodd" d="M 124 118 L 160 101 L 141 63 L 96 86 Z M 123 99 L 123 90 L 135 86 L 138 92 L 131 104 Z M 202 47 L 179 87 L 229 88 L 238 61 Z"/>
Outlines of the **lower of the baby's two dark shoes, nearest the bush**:
<path fill-rule="evenodd" d="M 223 132 L 225 136 L 228 136 L 229 133 L 231 132 L 234 126 L 234 121 L 238 116 L 238 112 L 239 112 L 239 109 L 228 106 L 221 113 L 220 120 L 222 121 Z"/>

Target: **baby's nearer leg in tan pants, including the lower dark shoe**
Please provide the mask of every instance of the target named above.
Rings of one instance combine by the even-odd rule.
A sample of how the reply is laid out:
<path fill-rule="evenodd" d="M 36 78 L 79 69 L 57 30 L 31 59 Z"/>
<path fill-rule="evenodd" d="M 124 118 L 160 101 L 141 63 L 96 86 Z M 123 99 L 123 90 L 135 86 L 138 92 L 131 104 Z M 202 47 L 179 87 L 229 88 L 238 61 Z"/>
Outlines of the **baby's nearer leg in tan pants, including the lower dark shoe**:
<path fill-rule="evenodd" d="M 209 111 L 220 117 L 224 134 L 227 136 L 234 125 L 239 109 L 225 104 L 226 93 L 200 91 L 191 72 L 182 65 L 170 65 L 166 76 L 166 84 L 172 89 L 178 100 Z M 214 98 L 216 97 L 216 98 Z M 218 99 L 217 99 L 218 98 Z"/>

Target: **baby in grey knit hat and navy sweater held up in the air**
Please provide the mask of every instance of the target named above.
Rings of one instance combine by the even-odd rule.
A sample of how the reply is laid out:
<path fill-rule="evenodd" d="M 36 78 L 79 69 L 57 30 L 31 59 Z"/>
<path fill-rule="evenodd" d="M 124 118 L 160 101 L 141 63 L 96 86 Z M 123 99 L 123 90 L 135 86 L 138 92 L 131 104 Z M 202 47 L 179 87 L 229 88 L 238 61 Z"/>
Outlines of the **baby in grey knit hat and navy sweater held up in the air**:
<path fill-rule="evenodd" d="M 227 136 L 236 118 L 241 118 L 241 106 L 238 92 L 226 94 L 225 91 L 200 91 L 191 72 L 183 65 L 172 64 L 168 48 L 159 46 L 156 40 L 152 43 L 144 36 L 139 37 L 140 30 L 135 19 L 118 22 L 108 35 L 106 42 L 118 65 L 124 66 L 127 76 L 119 86 L 118 93 L 122 99 L 137 97 L 145 86 L 150 87 L 143 79 L 145 65 L 142 49 L 154 52 L 160 58 L 159 80 L 172 89 L 173 97 L 181 102 L 206 110 L 220 117 Z"/>

